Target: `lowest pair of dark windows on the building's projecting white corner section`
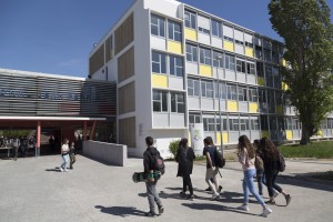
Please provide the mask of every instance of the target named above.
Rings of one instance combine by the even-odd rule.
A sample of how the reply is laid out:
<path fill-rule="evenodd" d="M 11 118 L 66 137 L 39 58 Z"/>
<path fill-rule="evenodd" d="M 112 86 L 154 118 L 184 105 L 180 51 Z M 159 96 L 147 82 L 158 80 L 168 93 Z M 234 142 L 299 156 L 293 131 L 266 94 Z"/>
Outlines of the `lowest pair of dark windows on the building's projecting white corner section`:
<path fill-rule="evenodd" d="M 170 107 L 169 107 L 169 101 Z M 185 113 L 184 93 L 167 92 L 153 90 L 153 111 L 154 112 Z"/>

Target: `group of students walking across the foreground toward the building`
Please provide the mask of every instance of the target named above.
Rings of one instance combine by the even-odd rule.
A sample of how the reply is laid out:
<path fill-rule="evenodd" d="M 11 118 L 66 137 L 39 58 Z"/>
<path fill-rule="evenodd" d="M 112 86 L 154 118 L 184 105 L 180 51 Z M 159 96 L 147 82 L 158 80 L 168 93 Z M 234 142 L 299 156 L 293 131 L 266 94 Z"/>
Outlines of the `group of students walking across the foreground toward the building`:
<path fill-rule="evenodd" d="M 148 148 L 143 153 L 143 165 L 144 172 L 149 174 L 151 170 L 155 169 L 154 157 L 160 157 L 160 153 L 157 148 L 153 147 L 153 139 L 151 137 L 145 138 L 145 143 Z M 218 164 L 215 163 L 216 147 L 214 145 L 211 137 L 205 138 L 203 140 L 203 155 L 205 155 L 206 159 L 205 182 L 209 185 L 209 189 L 206 190 L 212 192 L 211 200 L 218 200 L 220 198 L 222 186 L 219 184 L 218 180 L 218 173 L 220 173 L 220 171 Z M 175 155 L 175 161 L 179 163 L 176 175 L 182 176 L 183 179 L 183 189 L 180 194 L 186 196 L 189 200 L 194 199 L 193 185 L 191 181 L 194 159 L 195 154 L 193 149 L 188 145 L 188 139 L 181 139 Z M 246 135 L 241 135 L 238 144 L 238 159 L 244 175 L 242 182 L 244 201 L 243 204 L 238 208 L 238 210 L 249 211 L 249 191 L 262 205 L 262 216 L 266 216 L 273 212 L 268 205 L 275 204 L 274 198 L 276 198 L 279 193 L 284 195 L 286 205 L 290 204 L 291 195 L 275 182 L 279 174 L 280 153 L 271 140 L 268 138 L 262 138 L 261 140 L 255 140 L 252 144 Z M 256 191 L 253 182 L 254 176 L 256 176 L 258 180 L 259 192 Z M 157 216 L 164 212 L 164 208 L 155 189 L 157 182 L 158 180 L 145 181 L 150 205 L 150 211 L 145 213 L 147 216 Z M 268 186 L 270 195 L 270 200 L 266 202 L 264 202 L 262 192 L 263 184 Z M 189 195 L 185 194 L 188 189 L 190 191 Z M 158 205 L 159 214 L 154 208 L 155 203 Z"/>

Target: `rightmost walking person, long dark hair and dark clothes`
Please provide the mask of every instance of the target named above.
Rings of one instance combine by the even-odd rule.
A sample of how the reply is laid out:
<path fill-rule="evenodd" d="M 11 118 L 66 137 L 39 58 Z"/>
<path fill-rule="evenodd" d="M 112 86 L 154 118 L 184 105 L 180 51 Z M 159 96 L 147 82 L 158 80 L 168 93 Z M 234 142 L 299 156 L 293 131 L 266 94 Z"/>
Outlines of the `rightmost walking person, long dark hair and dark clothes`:
<path fill-rule="evenodd" d="M 279 174 L 280 169 L 280 152 L 278 151 L 274 143 L 268 138 L 262 138 L 259 143 L 259 148 L 262 150 L 261 159 L 264 162 L 264 175 L 266 180 L 266 185 L 269 190 L 270 201 L 269 204 L 274 205 L 274 189 L 282 193 L 285 198 L 286 205 L 290 204 L 291 195 L 282 190 L 280 185 L 275 183 L 276 176 Z M 284 168 L 284 161 L 283 161 Z M 283 169 L 284 170 L 284 169 Z"/>

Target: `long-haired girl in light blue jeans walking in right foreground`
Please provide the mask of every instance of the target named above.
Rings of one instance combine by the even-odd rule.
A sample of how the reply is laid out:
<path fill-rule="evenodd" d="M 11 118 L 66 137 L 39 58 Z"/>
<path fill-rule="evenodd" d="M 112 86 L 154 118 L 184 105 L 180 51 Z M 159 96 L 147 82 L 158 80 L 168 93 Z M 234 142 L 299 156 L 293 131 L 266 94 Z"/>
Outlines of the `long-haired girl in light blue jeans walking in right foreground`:
<path fill-rule="evenodd" d="M 249 211 L 249 190 L 250 190 L 252 195 L 262 205 L 263 212 L 261 215 L 266 216 L 273 211 L 266 206 L 263 199 L 256 192 L 255 185 L 253 183 L 253 176 L 255 175 L 254 152 L 255 152 L 254 148 L 251 144 L 249 138 L 246 135 L 241 135 L 239 138 L 238 155 L 239 155 L 239 162 L 241 163 L 244 172 L 244 180 L 243 180 L 244 203 L 238 209 L 243 211 Z"/>

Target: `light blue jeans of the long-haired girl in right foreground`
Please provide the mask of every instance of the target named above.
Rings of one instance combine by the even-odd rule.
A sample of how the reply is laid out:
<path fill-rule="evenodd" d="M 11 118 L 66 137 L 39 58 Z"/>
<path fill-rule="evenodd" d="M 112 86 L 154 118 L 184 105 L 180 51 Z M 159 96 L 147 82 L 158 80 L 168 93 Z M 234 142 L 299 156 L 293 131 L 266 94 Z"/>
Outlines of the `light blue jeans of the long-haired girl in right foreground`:
<path fill-rule="evenodd" d="M 258 200 L 261 205 L 265 205 L 262 198 L 258 194 L 255 190 L 255 185 L 253 182 L 253 176 L 255 175 L 255 169 L 244 171 L 244 180 L 243 180 L 243 191 L 244 191 L 244 203 L 249 203 L 249 190 L 252 195 Z"/>

